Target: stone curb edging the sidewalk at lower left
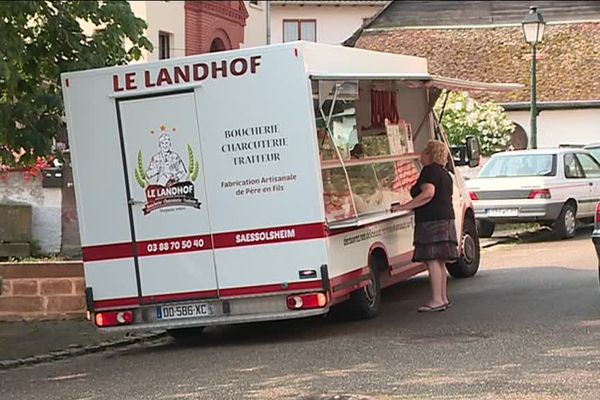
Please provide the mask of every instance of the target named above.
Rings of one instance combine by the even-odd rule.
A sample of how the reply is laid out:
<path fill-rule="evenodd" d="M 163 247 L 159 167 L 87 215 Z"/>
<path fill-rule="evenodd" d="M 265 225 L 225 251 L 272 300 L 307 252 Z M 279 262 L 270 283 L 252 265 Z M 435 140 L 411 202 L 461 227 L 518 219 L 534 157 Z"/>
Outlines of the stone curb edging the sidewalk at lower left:
<path fill-rule="evenodd" d="M 52 361 L 64 360 L 67 358 L 82 356 L 85 354 L 99 353 L 108 349 L 130 346 L 141 342 L 150 342 L 166 336 L 164 331 L 152 331 L 148 333 L 127 336 L 122 339 L 107 340 L 92 345 L 74 345 L 64 350 L 54 350 L 46 354 L 29 356 L 12 360 L 0 360 L 0 371 L 9 370 L 17 367 L 47 363 Z"/>

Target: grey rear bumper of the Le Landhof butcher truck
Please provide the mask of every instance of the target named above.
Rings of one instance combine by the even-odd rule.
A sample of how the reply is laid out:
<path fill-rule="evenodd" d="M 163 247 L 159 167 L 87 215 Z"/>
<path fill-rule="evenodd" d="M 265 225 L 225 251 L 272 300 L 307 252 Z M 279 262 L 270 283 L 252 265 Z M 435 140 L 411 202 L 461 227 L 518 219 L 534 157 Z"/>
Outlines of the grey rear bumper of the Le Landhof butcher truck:
<path fill-rule="evenodd" d="M 130 325 L 98 328 L 100 332 L 110 333 L 117 331 L 154 330 L 193 328 L 200 326 L 234 325 L 251 322 L 279 321 L 286 319 L 307 318 L 326 314 L 329 307 L 309 310 L 289 310 L 287 296 L 271 295 L 228 300 L 196 300 L 177 303 L 161 303 L 136 308 L 134 322 Z M 207 317 L 181 318 L 160 320 L 157 317 L 157 308 L 168 305 L 186 305 L 206 303 L 214 310 L 214 314 Z"/>

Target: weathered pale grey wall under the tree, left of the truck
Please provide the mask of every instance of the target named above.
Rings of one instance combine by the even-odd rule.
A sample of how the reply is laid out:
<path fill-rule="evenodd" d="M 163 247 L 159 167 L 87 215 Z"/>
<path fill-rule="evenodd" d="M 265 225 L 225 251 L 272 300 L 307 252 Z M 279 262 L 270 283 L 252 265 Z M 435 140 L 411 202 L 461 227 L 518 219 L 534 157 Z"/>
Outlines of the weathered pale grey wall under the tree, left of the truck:
<path fill-rule="evenodd" d="M 30 204 L 32 240 L 40 254 L 58 254 L 62 235 L 60 188 L 43 188 L 41 177 L 26 179 L 25 172 L 3 172 L 0 203 Z M 0 238 L 2 240 L 2 238 Z"/>

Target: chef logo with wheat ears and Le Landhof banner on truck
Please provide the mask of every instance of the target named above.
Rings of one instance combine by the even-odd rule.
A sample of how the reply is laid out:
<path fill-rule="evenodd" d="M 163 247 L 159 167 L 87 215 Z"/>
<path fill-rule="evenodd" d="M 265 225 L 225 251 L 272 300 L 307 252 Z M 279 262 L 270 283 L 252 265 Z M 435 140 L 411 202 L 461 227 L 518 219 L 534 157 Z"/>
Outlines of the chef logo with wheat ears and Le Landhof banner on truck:
<path fill-rule="evenodd" d="M 150 131 L 154 134 L 154 131 Z M 172 129 L 175 132 L 175 128 Z M 188 164 L 173 150 L 172 132 L 165 125 L 160 126 L 158 151 L 145 167 L 142 151 L 138 151 L 135 179 L 144 189 L 146 205 L 144 214 L 166 207 L 200 208 L 195 197 L 194 182 L 200 171 L 192 146 L 188 144 Z"/>

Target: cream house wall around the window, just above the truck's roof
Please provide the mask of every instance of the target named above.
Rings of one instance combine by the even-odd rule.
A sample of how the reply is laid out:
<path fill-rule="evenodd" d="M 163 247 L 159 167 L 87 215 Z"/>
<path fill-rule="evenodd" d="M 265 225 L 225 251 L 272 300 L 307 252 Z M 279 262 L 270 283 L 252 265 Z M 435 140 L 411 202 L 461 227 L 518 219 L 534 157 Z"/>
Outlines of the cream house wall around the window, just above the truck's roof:
<path fill-rule="evenodd" d="M 340 44 L 380 6 L 271 6 L 271 43 L 283 42 L 284 19 L 317 20 L 317 42 Z"/>

